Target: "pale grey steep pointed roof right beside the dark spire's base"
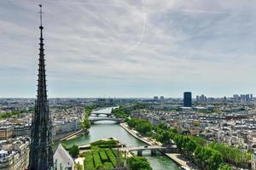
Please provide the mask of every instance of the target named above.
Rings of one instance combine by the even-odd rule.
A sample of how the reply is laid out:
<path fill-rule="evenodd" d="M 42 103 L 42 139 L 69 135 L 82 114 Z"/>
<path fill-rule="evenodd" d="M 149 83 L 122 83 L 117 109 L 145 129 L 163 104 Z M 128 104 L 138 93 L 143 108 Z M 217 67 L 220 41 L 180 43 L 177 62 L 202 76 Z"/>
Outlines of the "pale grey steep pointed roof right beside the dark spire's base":
<path fill-rule="evenodd" d="M 74 170 L 73 158 L 68 154 L 67 150 L 59 144 L 54 155 L 55 170 Z"/>

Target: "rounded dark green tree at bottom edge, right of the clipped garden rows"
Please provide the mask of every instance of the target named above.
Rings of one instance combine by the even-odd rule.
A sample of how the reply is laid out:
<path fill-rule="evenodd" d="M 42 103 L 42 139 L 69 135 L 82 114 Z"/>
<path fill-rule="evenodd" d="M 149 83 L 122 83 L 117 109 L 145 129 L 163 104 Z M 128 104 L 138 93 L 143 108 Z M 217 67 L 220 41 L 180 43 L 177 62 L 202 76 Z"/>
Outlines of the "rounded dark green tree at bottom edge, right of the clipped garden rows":
<path fill-rule="evenodd" d="M 132 156 L 127 159 L 130 170 L 152 170 L 146 158 Z"/>

